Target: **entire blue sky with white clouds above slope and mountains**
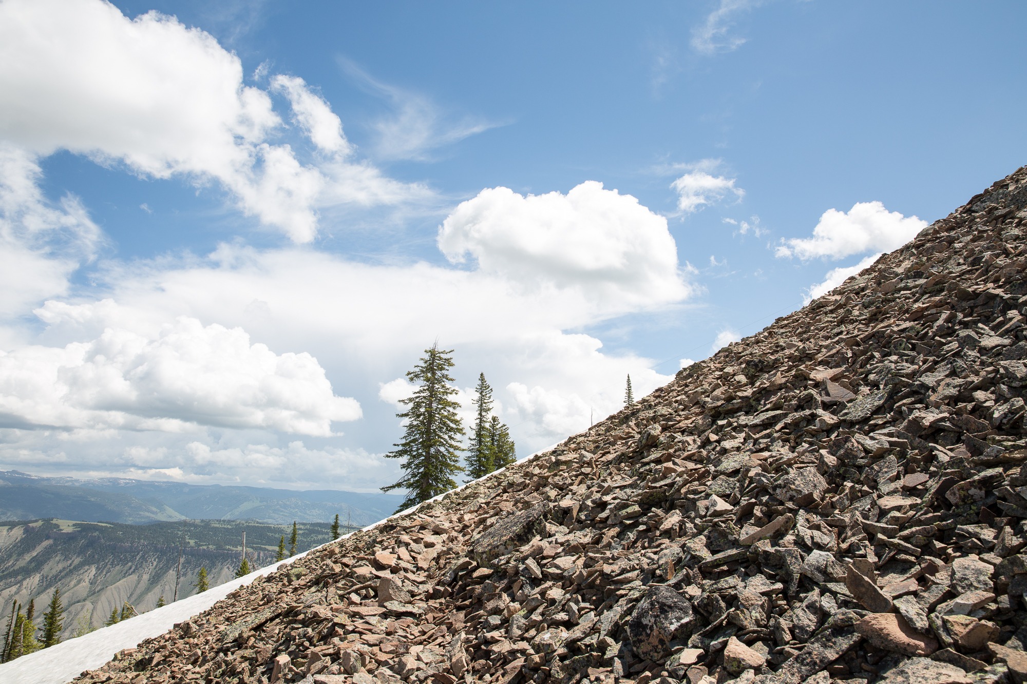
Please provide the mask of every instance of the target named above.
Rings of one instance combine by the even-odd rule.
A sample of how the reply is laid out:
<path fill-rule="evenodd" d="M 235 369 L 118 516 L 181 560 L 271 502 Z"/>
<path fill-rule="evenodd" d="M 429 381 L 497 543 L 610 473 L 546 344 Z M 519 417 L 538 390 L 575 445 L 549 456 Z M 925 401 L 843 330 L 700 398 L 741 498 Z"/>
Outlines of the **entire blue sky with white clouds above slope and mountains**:
<path fill-rule="evenodd" d="M 1021 3 L 210 5 L 0 2 L 0 467 L 373 489 L 436 338 L 526 455 L 1025 160 Z"/>

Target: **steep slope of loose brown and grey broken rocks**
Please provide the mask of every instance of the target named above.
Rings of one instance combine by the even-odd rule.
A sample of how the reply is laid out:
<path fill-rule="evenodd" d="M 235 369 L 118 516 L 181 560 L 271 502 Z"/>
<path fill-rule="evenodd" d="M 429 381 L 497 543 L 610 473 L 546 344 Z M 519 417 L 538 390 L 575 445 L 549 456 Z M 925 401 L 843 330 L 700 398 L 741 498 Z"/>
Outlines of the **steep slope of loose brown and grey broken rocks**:
<path fill-rule="evenodd" d="M 1027 677 L 1027 167 L 558 448 L 81 682 Z"/>

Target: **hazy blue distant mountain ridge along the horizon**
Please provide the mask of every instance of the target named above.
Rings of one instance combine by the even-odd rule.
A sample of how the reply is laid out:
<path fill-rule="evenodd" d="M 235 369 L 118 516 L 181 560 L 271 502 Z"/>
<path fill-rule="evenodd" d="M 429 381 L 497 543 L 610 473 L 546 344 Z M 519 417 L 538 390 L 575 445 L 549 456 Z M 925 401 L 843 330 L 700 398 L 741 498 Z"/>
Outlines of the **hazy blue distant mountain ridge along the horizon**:
<path fill-rule="evenodd" d="M 0 520 L 61 518 L 145 524 L 178 520 L 293 521 L 370 525 L 402 502 L 396 494 L 191 485 L 125 478 L 76 480 L 0 470 Z"/>

